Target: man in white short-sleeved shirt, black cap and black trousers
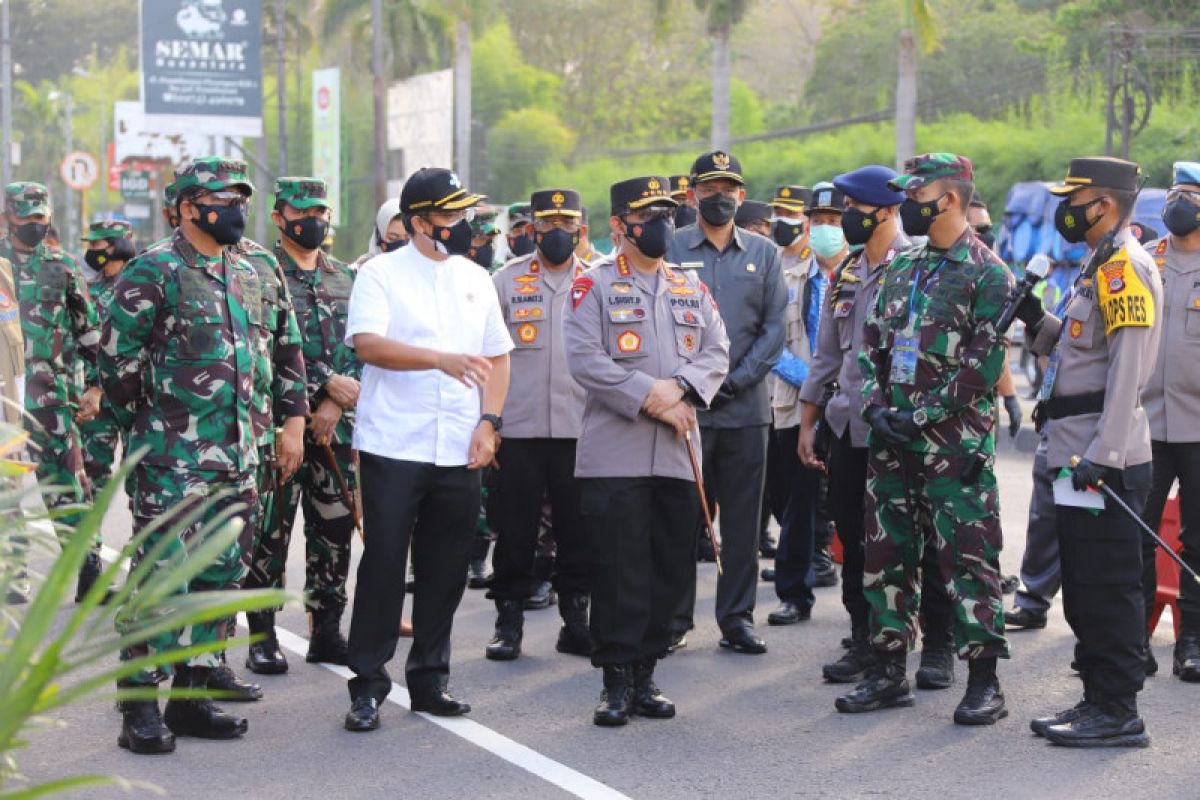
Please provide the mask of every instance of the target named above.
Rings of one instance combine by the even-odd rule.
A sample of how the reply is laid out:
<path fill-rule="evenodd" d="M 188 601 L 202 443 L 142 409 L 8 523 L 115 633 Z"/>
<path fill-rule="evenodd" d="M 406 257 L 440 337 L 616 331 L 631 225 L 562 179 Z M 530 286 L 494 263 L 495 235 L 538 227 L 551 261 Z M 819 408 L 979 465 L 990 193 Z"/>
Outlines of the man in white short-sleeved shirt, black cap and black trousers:
<path fill-rule="evenodd" d="M 366 365 L 354 431 L 366 545 L 350 619 L 348 730 L 379 727 L 409 545 L 418 575 L 404 667 L 410 708 L 470 711 L 446 691 L 450 628 L 466 589 L 479 470 L 499 444 L 512 349 L 491 278 L 463 257 L 482 199 L 448 169 L 413 173 L 400 196 L 413 246 L 364 264 L 350 295 L 346 339 Z"/>

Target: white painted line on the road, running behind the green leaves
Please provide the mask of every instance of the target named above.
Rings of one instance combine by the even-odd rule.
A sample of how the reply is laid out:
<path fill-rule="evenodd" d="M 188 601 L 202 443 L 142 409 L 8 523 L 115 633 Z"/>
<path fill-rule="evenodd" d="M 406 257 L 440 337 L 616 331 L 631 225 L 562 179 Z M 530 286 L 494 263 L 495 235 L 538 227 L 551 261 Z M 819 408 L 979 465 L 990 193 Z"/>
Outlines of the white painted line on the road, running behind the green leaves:
<path fill-rule="evenodd" d="M 101 555 L 106 561 L 112 563 L 120 557 L 120 553 L 106 545 L 101 549 Z M 238 624 L 241 627 L 246 627 L 240 616 Z M 308 639 L 282 627 L 276 627 L 275 634 L 280 640 L 280 646 L 283 649 L 300 657 L 304 657 L 308 652 Z M 322 663 L 320 666 L 347 680 L 354 674 L 346 667 L 326 663 Z M 406 711 L 410 710 L 408 706 L 408 690 L 395 681 L 391 684 L 388 702 L 395 703 Z M 556 762 L 553 758 L 542 756 L 538 751 L 526 747 L 521 742 L 514 741 L 504 734 L 497 733 L 473 720 L 468 720 L 467 717 L 438 717 L 424 711 L 418 711 L 416 714 L 443 730 L 448 730 L 460 739 L 464 739 L 476 747 L 481 747 L 493 756 L 503 758 L 514 766 L 536 775 L 547 783 L 553 783 L 563 792 L 576 798 L 582 798 L 583 800 L 630 800 L 628 795 L 622 794 L 617 789 L 595 778 L 590 778 L 565 764 Z"/>

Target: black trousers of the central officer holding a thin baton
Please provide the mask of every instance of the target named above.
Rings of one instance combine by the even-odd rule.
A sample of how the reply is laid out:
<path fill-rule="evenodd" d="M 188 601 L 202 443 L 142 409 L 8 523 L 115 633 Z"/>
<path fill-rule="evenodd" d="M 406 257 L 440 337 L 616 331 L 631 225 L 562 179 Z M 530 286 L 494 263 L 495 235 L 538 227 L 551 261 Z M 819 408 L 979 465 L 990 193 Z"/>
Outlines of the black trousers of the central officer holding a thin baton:
<path fill-rule="evenodd" d="M 592 663 L 661 657 L 680 599 L 689 585 L 695 591 L 696 486 L 671 477 L 588 477 L 580 483 L 592 564 Z"/>

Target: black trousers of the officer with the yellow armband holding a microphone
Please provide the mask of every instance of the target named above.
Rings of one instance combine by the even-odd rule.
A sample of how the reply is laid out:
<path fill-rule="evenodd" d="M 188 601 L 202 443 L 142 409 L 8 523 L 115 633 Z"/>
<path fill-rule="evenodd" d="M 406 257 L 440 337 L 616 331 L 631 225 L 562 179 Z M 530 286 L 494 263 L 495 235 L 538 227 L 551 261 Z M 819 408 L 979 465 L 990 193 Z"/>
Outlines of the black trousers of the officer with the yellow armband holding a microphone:
<path fill-rule="evenodd" d="M 1110 470 L 1106 482 L 1135 513 L 1150 493 L 1150 464 Z M 1099 515 L 1057 509 L 1062 608 L 1075 632 L 1075 662 L 1093 692 L 1128 696 L 1146 678 L 1146 607 L 1141 594 L 1141 530 L 1109 501 Z"/>

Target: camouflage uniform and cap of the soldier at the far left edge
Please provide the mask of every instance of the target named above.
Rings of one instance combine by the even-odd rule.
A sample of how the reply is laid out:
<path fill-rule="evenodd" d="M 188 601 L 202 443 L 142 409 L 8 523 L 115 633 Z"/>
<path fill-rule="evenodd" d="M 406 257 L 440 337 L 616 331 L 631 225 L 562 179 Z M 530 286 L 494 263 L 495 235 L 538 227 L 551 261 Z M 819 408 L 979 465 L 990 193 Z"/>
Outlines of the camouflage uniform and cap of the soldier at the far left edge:
<path fill-rule="evenodd" d="M 10 184 L 5 187 L 8 211 L 18 217 L 49 216 L 50 203 L 40 184 Z M 10 234 L 12 235 L 12 234 Z M 77 360 L 89 385 L 96 385 L 96 347 L 100 323 L 88 296 L 79 265 L 62 251 L 46 243 L 32 252 L 18 252 L 11 240 L 0 245 L 0 257 L 13 265 L 22 333 L 25 339 L 25 411 L 37 480 L 43 486 L 62 487 L 47 495 L 50 507 L 88 499 L 88 479 L 79 447 Z M 5 299 L 11 305 L 12 299 Z M 5 302 L 0 302 L 0 309 Z M 78 516 L 62 518 L 74 525 Z M 64 533 L 59 531 L 60 539 Z M 96 546 L 100 537 L 96 537 Z"/>

